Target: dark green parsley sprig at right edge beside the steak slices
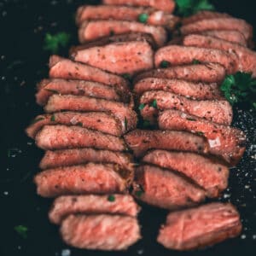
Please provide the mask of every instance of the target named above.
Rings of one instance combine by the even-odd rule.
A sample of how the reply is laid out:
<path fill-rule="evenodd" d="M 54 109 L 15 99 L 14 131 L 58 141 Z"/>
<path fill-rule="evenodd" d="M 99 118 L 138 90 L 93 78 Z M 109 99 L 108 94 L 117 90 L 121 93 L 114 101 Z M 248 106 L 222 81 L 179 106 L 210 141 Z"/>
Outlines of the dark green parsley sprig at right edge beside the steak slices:
<path fill-rule="evenodd" d="M 256 79 L 252 78 L 252 73 L 227 75 L 220 90 L 231 105 L 243 102 L 256 108 Z"/>

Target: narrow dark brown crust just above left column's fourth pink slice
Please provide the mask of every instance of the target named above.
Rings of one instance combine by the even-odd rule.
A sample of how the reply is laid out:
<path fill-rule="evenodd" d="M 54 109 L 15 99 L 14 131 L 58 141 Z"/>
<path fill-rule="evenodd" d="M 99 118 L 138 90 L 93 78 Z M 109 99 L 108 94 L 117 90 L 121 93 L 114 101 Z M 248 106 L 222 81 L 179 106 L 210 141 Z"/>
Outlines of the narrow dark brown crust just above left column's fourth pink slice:
<path fill-rule="evenodd" d="M 122 42 L 147 42 L 151 45 L 153 49 L 156 48 L 154 38 L 152 38 L 151 35 L 147 33 L 139 33 L 139 32 L 132 32 L 128 34 L 120 34 L 120 35 L 113 35 L 110 37 L 100 38 L 99 40 L 89 42 L 87 44 L 79 44 L 77 46 L 71 47 L 69 50 L 69 55 L 76 54 L 77 51 L 81 49 L 89 49 L 91 47 L 96 46 L 104 46 L 106 44 L 112 44 L 112 43 L 122 43 Z"/>

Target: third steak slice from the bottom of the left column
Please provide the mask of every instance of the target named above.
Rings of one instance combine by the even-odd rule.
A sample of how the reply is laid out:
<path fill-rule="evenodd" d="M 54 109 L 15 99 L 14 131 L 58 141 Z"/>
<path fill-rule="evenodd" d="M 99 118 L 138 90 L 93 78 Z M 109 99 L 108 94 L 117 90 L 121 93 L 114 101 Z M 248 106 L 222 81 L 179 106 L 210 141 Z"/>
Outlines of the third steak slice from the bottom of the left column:
<path fill-rule="evenodd" d="M 38 195 L 56 197 L 76 194 L 124 193 L 133 178 L 132 172 L 117 165 L 89 163 L 39 172 L 34 177 Z"/>

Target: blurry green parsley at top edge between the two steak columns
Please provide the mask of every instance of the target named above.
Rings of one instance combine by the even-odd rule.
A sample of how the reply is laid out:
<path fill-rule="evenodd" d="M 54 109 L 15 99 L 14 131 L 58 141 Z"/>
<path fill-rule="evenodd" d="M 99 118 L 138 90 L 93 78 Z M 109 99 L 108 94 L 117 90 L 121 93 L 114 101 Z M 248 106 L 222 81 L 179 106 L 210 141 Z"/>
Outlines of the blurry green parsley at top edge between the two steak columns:
<path fill-rule="evenodd" d="M 214 10 L 208 0 L 176 0 L 177 14 L 182 16 L 195 15 L 201 10 Z"/>

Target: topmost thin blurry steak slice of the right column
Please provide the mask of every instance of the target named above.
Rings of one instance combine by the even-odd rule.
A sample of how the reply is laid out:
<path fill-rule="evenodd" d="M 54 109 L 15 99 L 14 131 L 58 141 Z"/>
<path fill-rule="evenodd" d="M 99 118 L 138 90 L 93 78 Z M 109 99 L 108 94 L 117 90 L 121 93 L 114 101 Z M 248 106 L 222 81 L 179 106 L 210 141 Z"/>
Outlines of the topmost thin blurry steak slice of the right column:
<path fill-rule="evenodd" d="M 218 18 L 231 18 L 230 15 L 224 13 L 218 13 L 215 11 L 203 10 L 197 12 L 195 15 L 191 15 L 189 17 L 185 17 L 182 20 L 183 25 L 187 25 L 189 23 L 194 23 L 199 20 L 209 20 L 209 19 L 218 19 Z"/>

